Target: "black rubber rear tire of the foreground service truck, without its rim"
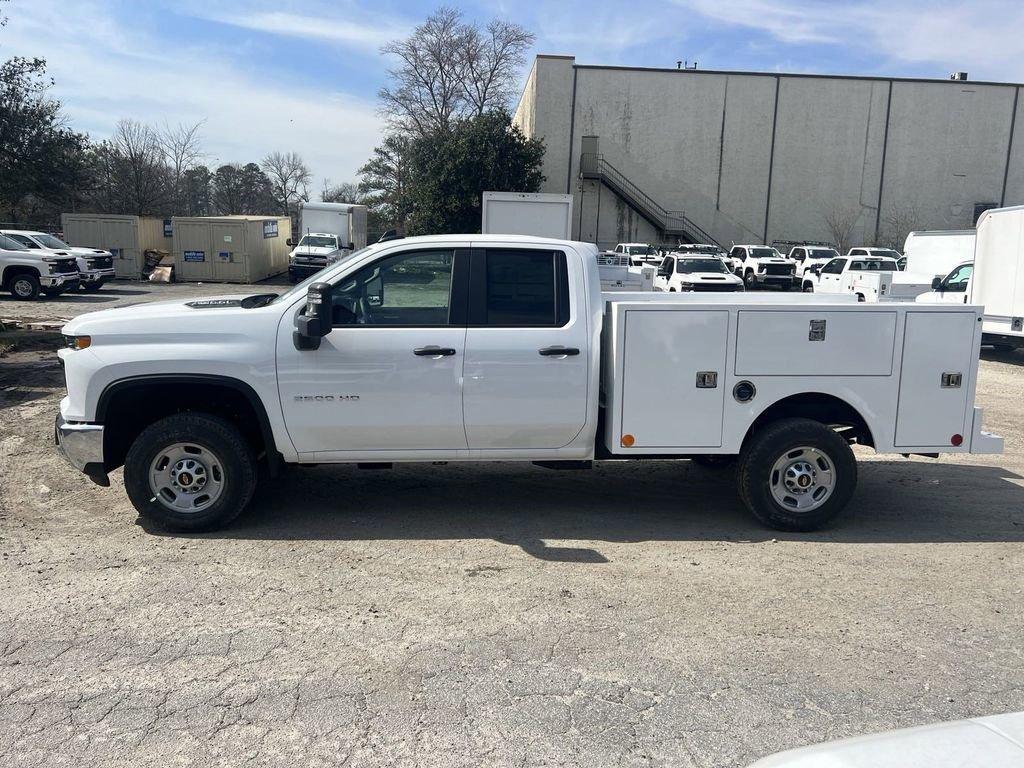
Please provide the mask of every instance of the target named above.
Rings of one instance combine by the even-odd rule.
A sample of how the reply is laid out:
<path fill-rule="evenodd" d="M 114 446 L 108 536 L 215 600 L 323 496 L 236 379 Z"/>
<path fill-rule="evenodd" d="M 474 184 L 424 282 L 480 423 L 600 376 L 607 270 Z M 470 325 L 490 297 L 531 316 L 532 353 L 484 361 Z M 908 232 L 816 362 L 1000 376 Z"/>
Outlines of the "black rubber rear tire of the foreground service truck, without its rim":
<path fill-rule="evenodd" d="M 798 511 L 780 504 L 772 493 L 773 467 L 801 447 L 813 449 L 830 464 L 830 495 L 813 509 Z M 803 458 L 803 457 L 798 457 Z M 824 468 L 812 467 L 821 471 Z M 835 430 L 810 419 L 780 419 L 750 438 L 739 457 L 737 485 L 743 504 L 768 527 L 779 530 L 816 530 L 835 518 L 849 503 L 857 486 L 857 460 L 849 444 Z M 776 487 L 783 480 L 774 478 Z M 790 496 L 794 499 L 796 495 Z M 815 492 L 811 492 L 812 494 Z"/>

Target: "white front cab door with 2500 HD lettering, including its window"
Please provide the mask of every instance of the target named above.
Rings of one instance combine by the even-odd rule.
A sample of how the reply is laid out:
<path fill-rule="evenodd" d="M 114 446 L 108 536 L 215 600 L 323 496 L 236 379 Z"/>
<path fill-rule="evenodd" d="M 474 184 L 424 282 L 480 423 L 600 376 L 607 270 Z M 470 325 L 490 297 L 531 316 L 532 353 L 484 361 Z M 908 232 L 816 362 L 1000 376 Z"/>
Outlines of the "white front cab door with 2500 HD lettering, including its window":
<path fill-rule="evenodd" d="M 295 349 L 286 317 L 279 388 L 300 454 L 466 447 L 458 286 L 468 260 L 451 248 L 403 251 L 341 278 L 333 329 L 316 350 Z"/>

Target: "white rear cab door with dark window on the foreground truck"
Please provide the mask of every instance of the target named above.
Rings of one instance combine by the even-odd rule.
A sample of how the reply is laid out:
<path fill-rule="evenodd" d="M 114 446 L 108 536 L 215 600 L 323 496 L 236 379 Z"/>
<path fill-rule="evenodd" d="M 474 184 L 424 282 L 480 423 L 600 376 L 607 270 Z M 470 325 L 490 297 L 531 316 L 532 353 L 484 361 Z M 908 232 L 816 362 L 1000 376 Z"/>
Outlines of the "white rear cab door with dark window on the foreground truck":
<path fill-rule="evenodd" d="M 584 265 L 571 250 L 474 248 L 463 414 L 470 449 L 559 449 L 587 422 Z"/>

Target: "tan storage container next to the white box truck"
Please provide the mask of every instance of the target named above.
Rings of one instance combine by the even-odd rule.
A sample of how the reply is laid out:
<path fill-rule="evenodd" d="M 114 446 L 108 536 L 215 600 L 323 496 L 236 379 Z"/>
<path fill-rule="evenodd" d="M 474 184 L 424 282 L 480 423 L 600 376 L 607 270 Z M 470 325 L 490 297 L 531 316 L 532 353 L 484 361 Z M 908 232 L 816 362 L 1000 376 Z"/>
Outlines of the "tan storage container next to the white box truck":
<path fill-rule="evenodd" d="M 258 283 L 288 269 L 287 216 L 175 216 L 174 279 Z"/>

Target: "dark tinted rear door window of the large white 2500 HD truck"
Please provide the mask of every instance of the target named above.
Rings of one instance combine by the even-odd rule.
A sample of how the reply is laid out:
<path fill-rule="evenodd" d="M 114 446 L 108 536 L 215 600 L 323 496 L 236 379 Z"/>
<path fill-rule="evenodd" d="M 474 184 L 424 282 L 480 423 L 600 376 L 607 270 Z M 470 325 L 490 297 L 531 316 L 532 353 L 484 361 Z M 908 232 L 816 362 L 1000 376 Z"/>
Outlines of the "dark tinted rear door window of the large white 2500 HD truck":
<path fill-rule="evenodd" d="M 565 254 L 474 252 L 470 323 L 505 328 L 559 328 L 569 318 Z"/>

